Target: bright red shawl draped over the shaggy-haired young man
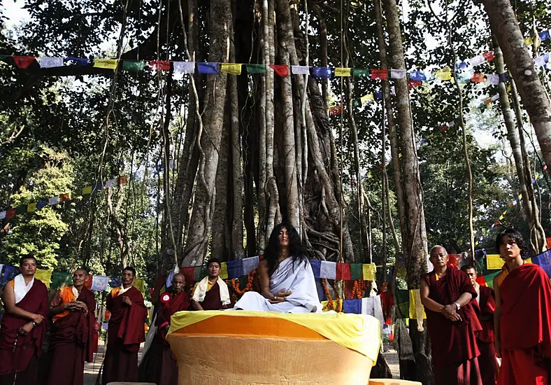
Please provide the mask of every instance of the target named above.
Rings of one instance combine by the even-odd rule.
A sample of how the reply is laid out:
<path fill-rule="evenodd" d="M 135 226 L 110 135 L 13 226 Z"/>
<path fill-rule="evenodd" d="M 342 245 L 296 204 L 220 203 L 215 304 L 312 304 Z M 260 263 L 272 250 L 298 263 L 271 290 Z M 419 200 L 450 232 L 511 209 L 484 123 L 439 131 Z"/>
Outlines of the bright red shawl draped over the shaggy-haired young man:
<path fill-rule="evenodd" d="M 538 265 L 524 263 L 501 283 L 501 349 L 538 349 L 551 356 L 551 283 Z"/>

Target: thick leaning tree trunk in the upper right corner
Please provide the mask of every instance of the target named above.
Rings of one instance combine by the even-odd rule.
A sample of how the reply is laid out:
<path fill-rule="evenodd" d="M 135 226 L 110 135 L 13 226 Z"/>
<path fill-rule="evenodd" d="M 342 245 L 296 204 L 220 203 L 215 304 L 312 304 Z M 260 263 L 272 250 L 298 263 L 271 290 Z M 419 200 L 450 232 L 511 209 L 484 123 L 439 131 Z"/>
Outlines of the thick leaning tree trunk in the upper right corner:
<path fill-rule="evenodd" d="M 513 7 L 509 0 L 482 0 L 482 3 L 534 126 L 545 163 L 551 165 L 551 104 L 524 44 Z"/>

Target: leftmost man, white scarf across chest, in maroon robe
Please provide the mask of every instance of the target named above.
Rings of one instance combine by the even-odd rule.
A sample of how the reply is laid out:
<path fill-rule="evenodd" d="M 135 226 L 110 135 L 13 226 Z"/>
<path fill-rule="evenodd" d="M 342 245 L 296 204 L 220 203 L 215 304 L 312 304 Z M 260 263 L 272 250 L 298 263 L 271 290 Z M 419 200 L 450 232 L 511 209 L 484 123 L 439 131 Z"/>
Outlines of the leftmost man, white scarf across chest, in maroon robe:
<path fill-rule="evenodd" d="M 21 258 L 19 265 L 21 274 L 6 283 L 2 293 L 6 312 L 0 323 L 0 385 L 36 384 L 45 336 L 48 289 L 34 279 L 34 257 Z"/>

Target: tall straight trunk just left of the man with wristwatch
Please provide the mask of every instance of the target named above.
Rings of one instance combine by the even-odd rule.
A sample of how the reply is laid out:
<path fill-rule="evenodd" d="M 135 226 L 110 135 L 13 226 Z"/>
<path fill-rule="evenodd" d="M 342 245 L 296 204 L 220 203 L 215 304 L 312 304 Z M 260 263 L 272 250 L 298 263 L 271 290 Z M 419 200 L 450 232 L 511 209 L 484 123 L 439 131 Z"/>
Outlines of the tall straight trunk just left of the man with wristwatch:
<path fill-rule="evenodd" d="M 402 35 L 398 9 L 394 0 L 382 1 L 387 17 L 391 64 L 393 69 L 406 69 L 403 58 Z M 427 272 L 427 230 L 424 223 L 423 196 L 419 175 L 415 134 L 411 119 L 407 78 L 396 79 L 396 105 L 400 127 L 401 151 L 403 160 L 403 182 L 406 195 L 406 214 L 410 248 L 405 249 L 407 281 L 409 289 L 420 288 L 420 282 Z M 410 335 L 415 353 L 415 373 L 404 374 L 406 379 L 422 381 L 424 385 L 432 382 L 431 360 L 429 358 L 428 334 L 423 324 L 410 320 Z"/>

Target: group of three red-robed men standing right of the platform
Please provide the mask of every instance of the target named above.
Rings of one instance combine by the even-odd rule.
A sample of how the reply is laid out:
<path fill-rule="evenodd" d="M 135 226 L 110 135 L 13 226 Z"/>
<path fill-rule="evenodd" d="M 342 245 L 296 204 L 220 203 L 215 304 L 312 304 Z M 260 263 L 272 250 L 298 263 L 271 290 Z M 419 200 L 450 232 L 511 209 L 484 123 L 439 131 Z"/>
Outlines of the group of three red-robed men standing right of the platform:
<path fill-rule="evenodd" d="M 494 290 L 474 265 L 448 264 L 434 246 L 434 270 L 421 281 L 435 385 L 550 385 L 551 281 L 526 262 L 527 244 L 507 228 L 496 238 L 504 260 Z M 501 358 L 501 366 L 499 365 Z"/>

